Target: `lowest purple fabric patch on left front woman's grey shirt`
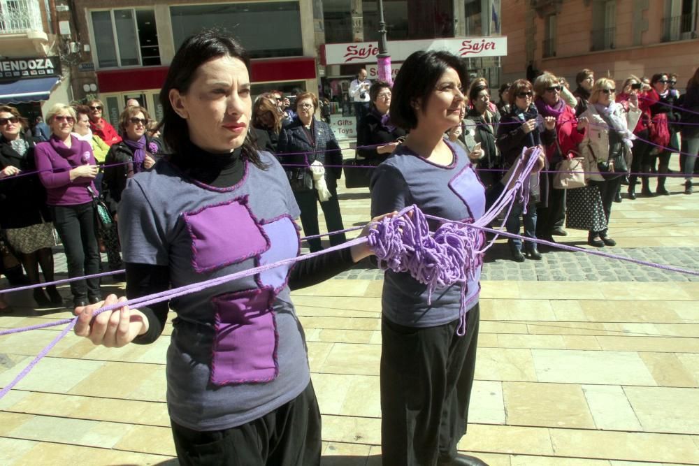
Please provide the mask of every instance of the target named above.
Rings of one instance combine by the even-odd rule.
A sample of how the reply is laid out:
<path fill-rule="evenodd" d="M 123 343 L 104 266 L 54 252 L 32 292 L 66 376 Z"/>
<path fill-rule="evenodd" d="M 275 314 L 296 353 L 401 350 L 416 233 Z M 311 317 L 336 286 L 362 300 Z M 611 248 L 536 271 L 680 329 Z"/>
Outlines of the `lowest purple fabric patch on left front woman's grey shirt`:
<path fill-rule="evenodd" d="M 279 373 L 278 335 L 270 288 L 213 298 L 216 336 L 210 381 L 215 385 L 268 382 Z"/>

